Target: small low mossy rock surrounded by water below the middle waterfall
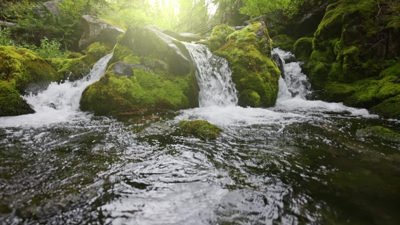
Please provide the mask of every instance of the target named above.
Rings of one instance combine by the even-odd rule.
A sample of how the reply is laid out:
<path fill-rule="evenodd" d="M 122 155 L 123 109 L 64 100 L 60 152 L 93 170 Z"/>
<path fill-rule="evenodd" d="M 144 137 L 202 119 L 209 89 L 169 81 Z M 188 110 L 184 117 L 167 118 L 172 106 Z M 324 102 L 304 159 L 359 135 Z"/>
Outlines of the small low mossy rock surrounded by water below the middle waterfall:
<path fill-rule="evenodd" d="M 208 140 L 216 139 L 222 132 L 222 129 L 216 125 L 202 120 L 180 121 L 178 127 L 186 132 L 198 135 Z"/>

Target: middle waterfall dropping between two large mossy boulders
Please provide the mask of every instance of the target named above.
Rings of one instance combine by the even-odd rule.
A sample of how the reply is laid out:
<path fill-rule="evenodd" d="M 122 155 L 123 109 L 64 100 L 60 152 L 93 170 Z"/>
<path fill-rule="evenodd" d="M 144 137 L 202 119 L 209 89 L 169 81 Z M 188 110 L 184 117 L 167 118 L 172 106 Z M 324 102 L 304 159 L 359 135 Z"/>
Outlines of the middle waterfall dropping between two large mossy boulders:
<path fill-rule="evenodd" d="M 238 103 L 235 84 L 228 61 L 213 55 L 201 44 L 184 43 L 190 52 L 196 69 L 196 78 L 200 88 L 199 105 L 230 106 Z"/>

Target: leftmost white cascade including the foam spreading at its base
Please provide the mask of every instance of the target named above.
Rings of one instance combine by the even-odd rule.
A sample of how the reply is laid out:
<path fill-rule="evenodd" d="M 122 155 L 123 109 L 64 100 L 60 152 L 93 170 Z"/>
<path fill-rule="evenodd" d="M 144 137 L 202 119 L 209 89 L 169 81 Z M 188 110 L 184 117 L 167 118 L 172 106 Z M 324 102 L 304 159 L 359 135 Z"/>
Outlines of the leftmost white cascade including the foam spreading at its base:
<path fill-rule="evenodd" d="M 64 83 L 52 82 L 46 90 L 37 95 L 32 93 L 23 98 L 36 113 L 16 117 L 0 117 L 0 127 L 42 126 L 82 118 L 87 113 L 79 110 L 79 101 L 83 90 L 99 80 L 106 71 L 112 53 L 101 58 L 93 66 L 88 76 L 76 81 Z"/>

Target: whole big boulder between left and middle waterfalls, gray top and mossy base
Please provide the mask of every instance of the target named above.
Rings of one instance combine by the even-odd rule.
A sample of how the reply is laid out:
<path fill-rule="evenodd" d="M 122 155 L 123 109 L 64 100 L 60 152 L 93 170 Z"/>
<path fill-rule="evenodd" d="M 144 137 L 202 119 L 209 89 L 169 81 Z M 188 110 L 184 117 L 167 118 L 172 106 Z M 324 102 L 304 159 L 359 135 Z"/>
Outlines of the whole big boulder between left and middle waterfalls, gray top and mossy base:
<path fill-rule="evenodd" d="M 139 114 L 198 107 L 190 54 L 178 40 L 131 26 L 114 47 L 110 66 L 82 93 L 82 110 L 96 115 Z"/>

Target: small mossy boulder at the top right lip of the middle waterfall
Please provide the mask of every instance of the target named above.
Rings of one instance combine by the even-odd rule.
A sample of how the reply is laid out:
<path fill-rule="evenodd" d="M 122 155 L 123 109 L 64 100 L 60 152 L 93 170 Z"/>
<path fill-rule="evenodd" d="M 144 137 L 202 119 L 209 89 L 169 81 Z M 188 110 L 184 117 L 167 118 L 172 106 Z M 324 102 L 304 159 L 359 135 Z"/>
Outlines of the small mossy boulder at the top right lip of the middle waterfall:
<path fill-rule="evenodd" d="M 204 44 L 210 49 L 210 52 L 214 52 L 220 48 L 226 42 L 226 37 L 235 31 L 234 28 L 225 24 L 215 26 L 212 29 L 211 36 L 208 40 L 198 41 L 196 44 Z"/>

